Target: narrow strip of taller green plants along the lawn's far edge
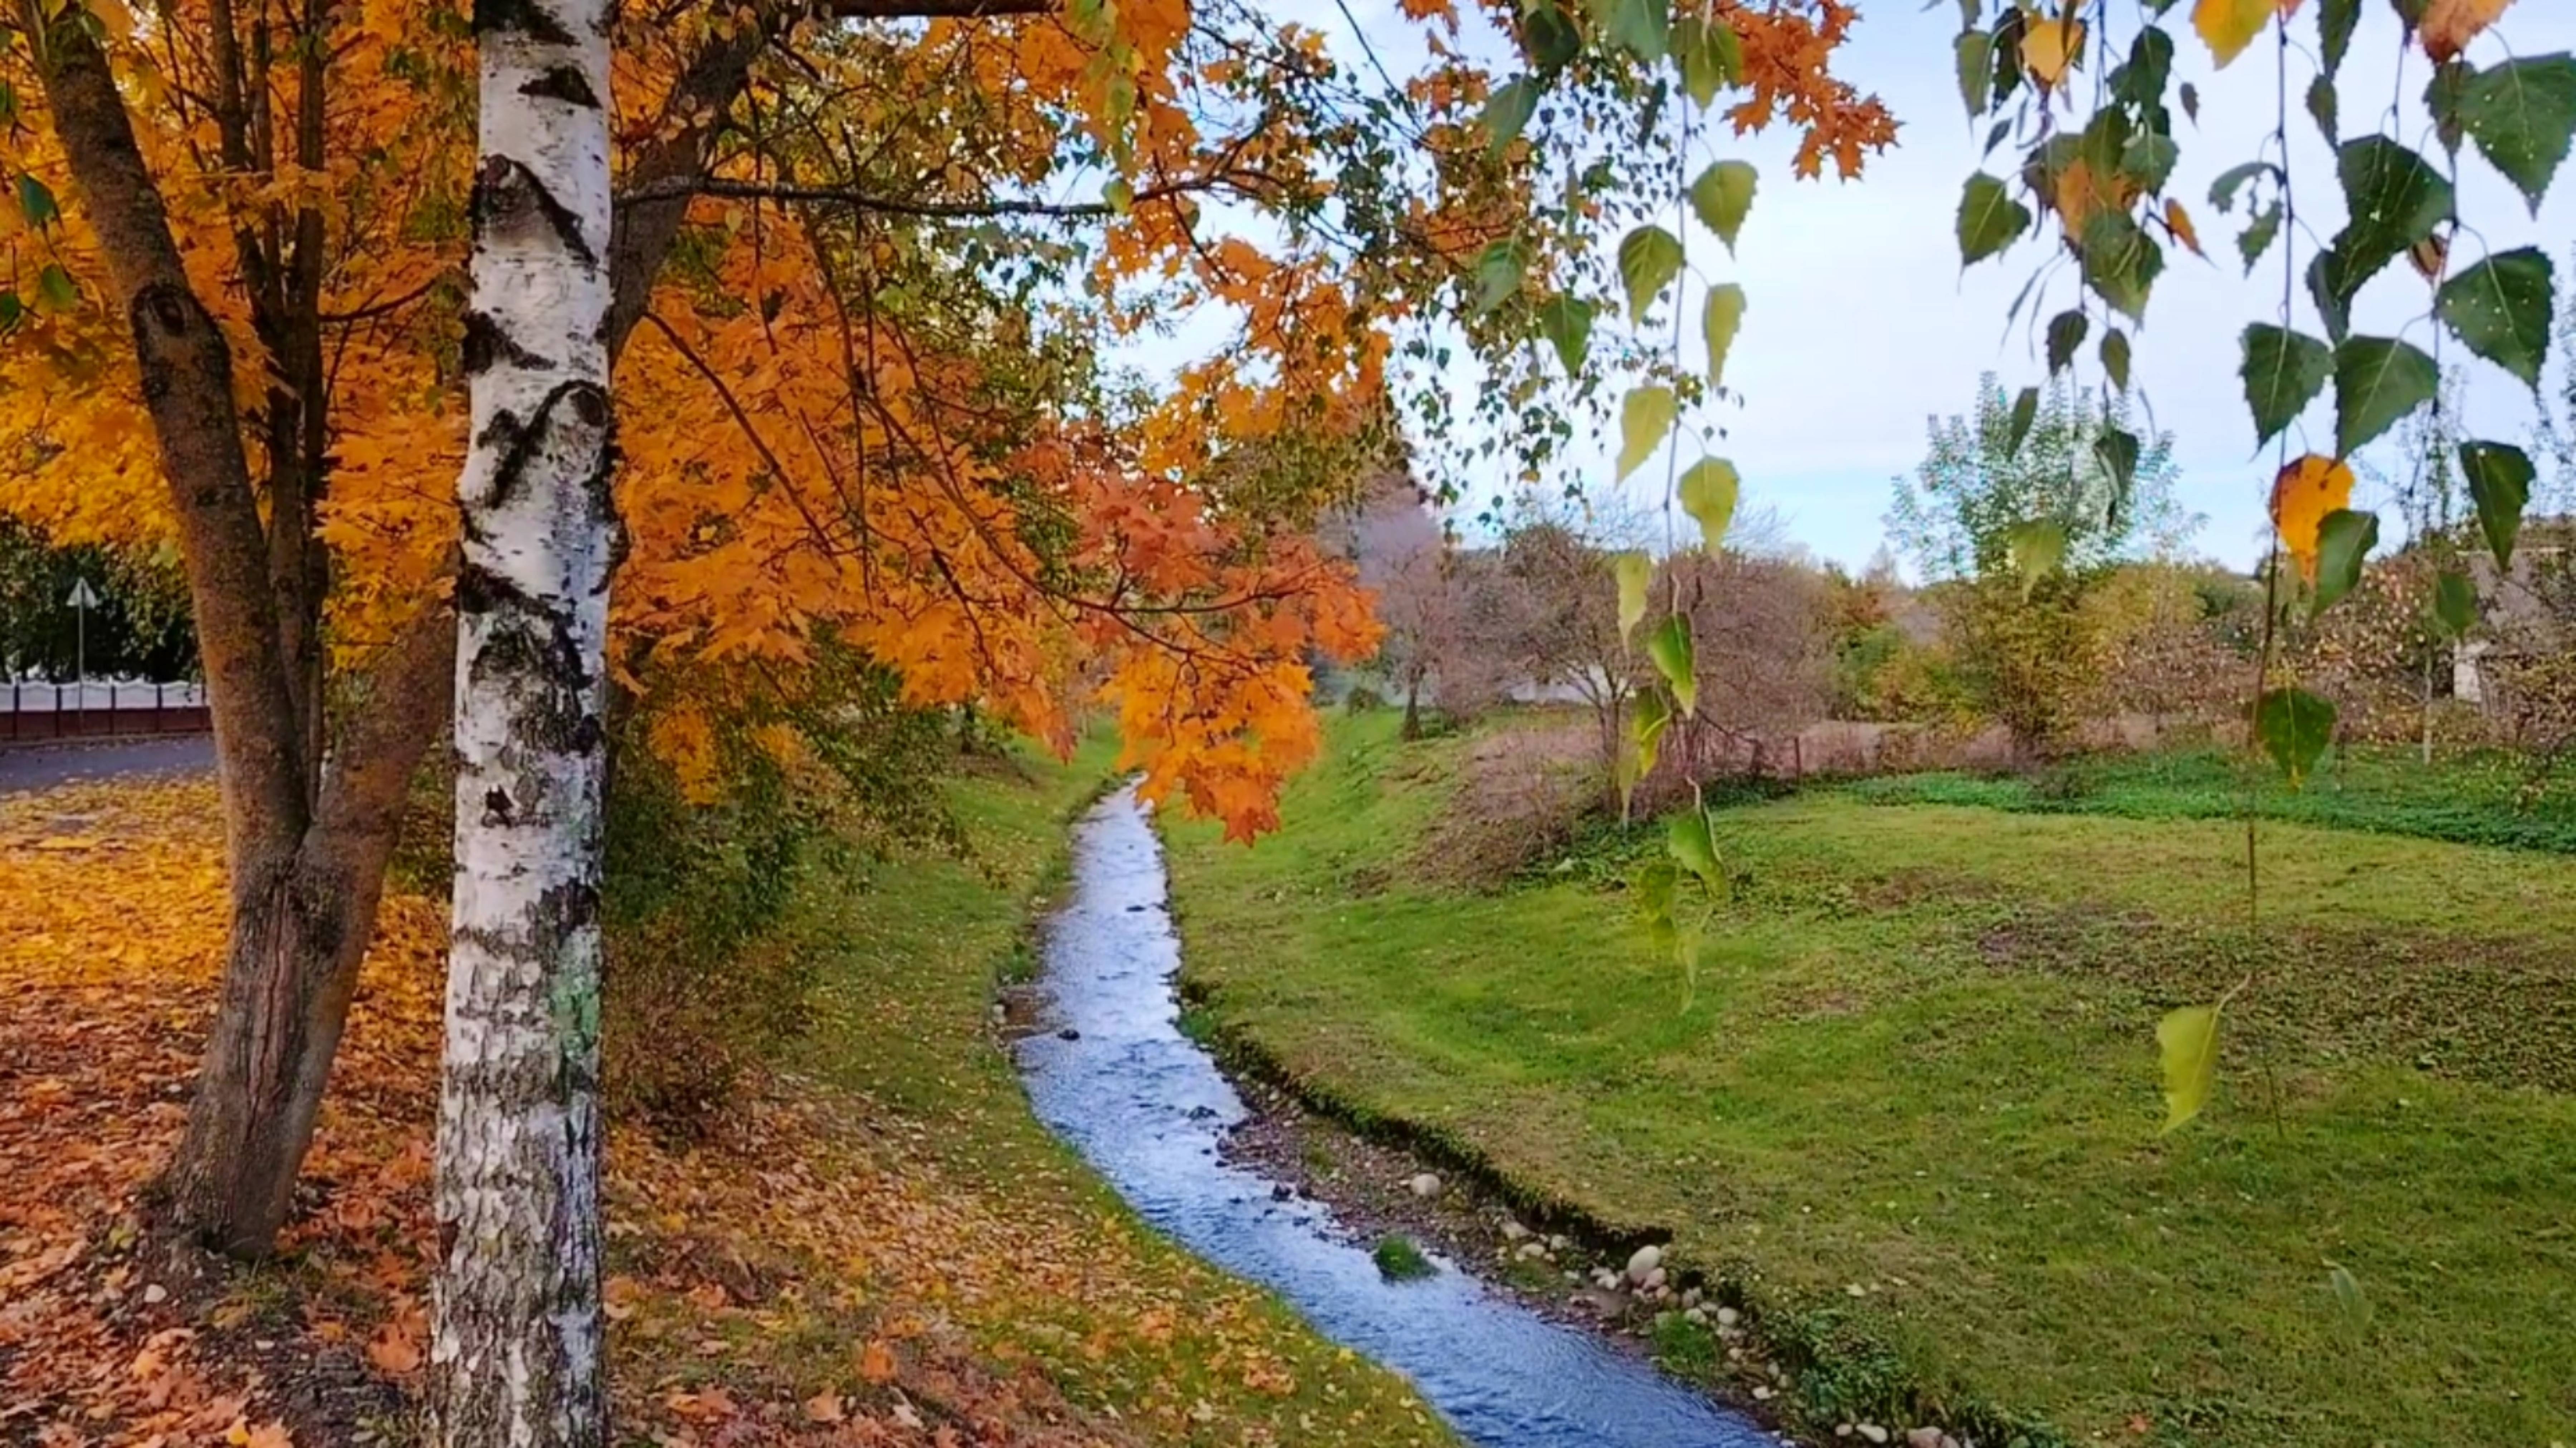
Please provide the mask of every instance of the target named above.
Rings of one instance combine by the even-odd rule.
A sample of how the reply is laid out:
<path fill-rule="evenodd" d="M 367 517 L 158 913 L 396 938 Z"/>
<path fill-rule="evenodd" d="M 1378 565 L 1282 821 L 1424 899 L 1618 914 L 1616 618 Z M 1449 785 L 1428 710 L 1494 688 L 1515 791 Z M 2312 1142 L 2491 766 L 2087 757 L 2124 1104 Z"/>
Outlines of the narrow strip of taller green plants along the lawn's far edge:
<path fill-rule="evenodd" d="M 2267 760 L 2187 750 L 2071 760 L 2032 778 L 1896 776 L 1842 786 L 1873 804 L 1976 804 L 2120 819 L 2264 819 L 2416 835 L 2455 845 L 2576 853 L 2576 788 L 2501 752 L 2419 763 L 2414 750 L 2347 750 L 2300 788 Z"/>

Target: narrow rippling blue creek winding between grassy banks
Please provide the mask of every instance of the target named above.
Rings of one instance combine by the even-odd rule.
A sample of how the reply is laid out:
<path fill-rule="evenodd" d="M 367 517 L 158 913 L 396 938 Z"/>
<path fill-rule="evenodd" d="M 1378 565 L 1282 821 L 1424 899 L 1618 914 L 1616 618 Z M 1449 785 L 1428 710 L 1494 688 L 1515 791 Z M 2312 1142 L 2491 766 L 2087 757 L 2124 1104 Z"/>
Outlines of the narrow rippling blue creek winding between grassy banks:
<path fill-rule="evenodd" d="M 1046 1031 L 1020 1043 L 1038 1118 L 1154 1226 L 1265 1283 L 1327 1337 L 1404 1373 L 1481 1448 L 1752 1448 L 1754 1422 L 1607 1342 L 1548 1322 L 1443 1260 L 1388 1283 L 1314 1201 L 1218 1154 L 1244 1103 L 1180 1033 L 1180 940 L 1162 843 L 1131 791 L 1074 830 L 1074 881 L 1048 920 Z M 1437 1257 L 1435 1257 L 1437 1260 Z"/>

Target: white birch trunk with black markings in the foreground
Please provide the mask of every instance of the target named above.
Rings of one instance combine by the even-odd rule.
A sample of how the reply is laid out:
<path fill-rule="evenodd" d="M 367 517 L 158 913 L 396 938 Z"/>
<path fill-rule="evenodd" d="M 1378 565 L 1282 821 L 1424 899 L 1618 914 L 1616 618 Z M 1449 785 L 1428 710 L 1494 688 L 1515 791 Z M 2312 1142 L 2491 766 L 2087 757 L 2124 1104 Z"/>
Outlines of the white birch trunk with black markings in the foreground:
<path fill-rule="evenodd" d="M 598 1445 L 608 5 L 477 0 L 438 1440 Z"/>

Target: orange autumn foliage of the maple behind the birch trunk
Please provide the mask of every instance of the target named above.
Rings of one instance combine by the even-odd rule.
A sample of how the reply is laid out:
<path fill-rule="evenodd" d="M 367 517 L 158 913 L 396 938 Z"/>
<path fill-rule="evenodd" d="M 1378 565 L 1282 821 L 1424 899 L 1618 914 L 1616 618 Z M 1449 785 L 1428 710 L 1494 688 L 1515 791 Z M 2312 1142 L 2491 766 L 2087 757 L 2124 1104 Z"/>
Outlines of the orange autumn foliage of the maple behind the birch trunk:
<path fill-rule="evenodd" d="M 263 62 L 252 85 L 263 116 L 327 88 L 327 129 L 299 149 L 216 126 L 227 0 L 82 5 L 57 23 L 108 41 L 191 278 L 242 358 L 247 417 L 294 374 L 276 319 L 296 299 L 255 260 L 317 224 L 325 634 L 337 670 L 366 670 L 440 598 L 456 528 L 466 18 L 440 0 L 289 8 L 294 44 L 270 52 L 312 41 L 319 62 Z M 1533 276 L 1571 273 L 1579 240 L 1533 227 L 1561 157 L 1535 131 L 1486 147 L 1476 119 L 1522 57 L 1461 41 L 1450 5 L 1406 5 L 1430 41 L 1414 77 L 1350 70 L 1242 0 L 1005 8 L 1041 13 L 623 10 L 621 227 L 672 216 L 677 240 L 616 376 L 613 660 L 631 683 L 685 665 L 724 691 L 793 693 L 837 639 L 914 703 L 974 701 L 1059 745 L 1069 711 L 1105 696 L 1149 794 L 1177 788 L 1249 835 L 1314 750 L 1309 660 L 1378 636 L 1306 526 L 1419 412 L 1396 363 L 1461 312 L 1484 247 L 1520 234 Z M 1466 26 L 1525 44 L 1517 13 L 1492 0 Z M 1886 113 L 1824 70 L 1847 5 L 1713 13 L 1744 41 L 1739 126 L 1806 126 L 1808 170 L 1832 155 L 1850 173 L 1886 142 Z M 657 173 L 657 142 L 708 121 L 701 70 L 755 31 L 765 49 L 706 173 Z M 167 484 L 126 325 L 98 304 L 95 237 L 36 113 L 33 36 L 18 41 L 0 54 L 18 198 L 0 206 L 0 505 L 67 541 L 155 544 Z M 1172 386 L 1115 366 L 1113 348 L 1193 314 L 1226 338 Z M 1471 345 L 1494 366 L 1515 350 Z M 278 443 L 245 433 L 255 453 Z"/>

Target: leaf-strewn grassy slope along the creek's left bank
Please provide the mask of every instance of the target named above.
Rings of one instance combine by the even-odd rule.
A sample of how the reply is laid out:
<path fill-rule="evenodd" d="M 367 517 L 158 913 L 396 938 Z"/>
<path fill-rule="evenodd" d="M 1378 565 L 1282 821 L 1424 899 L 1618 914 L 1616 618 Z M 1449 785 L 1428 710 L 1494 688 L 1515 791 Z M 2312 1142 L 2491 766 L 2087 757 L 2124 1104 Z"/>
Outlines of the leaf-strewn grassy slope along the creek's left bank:
<path fill-rule="evenodd" d="M 1154 1440 L 1455 1443 L 1401 1378 L 1167 1242 L 1030 1116 L 987 1028 L 992 992 L 1036 964 L 1028 925 L 1061 891 L 1069 817 L 1110 752 L 1025 765 L 953 788 L 971 863 L 889 861 L 806 891 L 793 920 L 824 966 L 814 1028 L 783 1064 L 850 1092 L 899 1159 L 935 1165 L 948 1201 L 909 1252 L 974 1250 L 1025 1275 L 1010 1296 L 914 1311 Z"/>

